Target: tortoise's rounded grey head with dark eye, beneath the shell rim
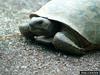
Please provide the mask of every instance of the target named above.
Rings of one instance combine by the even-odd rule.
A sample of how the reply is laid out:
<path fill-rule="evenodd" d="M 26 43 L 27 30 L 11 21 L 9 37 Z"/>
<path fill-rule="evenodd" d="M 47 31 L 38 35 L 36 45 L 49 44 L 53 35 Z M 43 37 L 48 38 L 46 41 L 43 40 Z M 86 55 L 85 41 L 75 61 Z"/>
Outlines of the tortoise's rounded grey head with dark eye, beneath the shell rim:
<path fill-rule="evenodd" d="M 32 17 L 29 22 L 29 30 L 37 36 L 50 35 L 51 21 L 42 17 Z"/>

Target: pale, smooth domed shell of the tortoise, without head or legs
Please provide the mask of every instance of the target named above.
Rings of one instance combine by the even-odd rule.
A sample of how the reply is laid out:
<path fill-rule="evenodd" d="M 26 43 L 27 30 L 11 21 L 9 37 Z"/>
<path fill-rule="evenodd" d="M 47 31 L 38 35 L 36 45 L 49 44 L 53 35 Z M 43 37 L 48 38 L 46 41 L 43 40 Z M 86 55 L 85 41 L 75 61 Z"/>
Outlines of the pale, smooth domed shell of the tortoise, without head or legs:
<path fill-rule="evenodd" d="M 32 16 L 56 20 L 100 45 L 100 0 L 51 0 Z"/>

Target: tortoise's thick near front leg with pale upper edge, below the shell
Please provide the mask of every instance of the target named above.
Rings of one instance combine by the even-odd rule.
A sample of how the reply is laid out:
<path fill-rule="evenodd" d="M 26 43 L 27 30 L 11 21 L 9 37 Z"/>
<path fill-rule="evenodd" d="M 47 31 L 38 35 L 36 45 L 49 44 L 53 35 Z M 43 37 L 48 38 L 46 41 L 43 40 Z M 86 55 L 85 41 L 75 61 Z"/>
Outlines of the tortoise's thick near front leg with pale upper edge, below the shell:
<path fill-rule="evenodd" d="M 63 32 L 58 32 L 55 34 L 53 39 L 53 45 L 55 48 L 63 51 L 68 52 L 68 54 L 76 54 L 76 55 L 83 55 L 85 54 L 84 49 L 78 47 L 74 41 L 70 40 Z"/>

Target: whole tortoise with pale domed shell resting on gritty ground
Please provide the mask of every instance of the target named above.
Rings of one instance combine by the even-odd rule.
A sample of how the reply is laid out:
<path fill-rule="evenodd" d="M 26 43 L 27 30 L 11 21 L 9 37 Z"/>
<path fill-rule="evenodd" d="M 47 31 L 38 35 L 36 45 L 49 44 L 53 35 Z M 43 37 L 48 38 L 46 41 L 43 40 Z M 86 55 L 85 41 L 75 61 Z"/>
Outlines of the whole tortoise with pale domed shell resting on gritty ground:
<path fill-rule="evenodd" d="M 71 54 L 100 50 L 100 0 L 51 0 L 19 30 Z"/>

